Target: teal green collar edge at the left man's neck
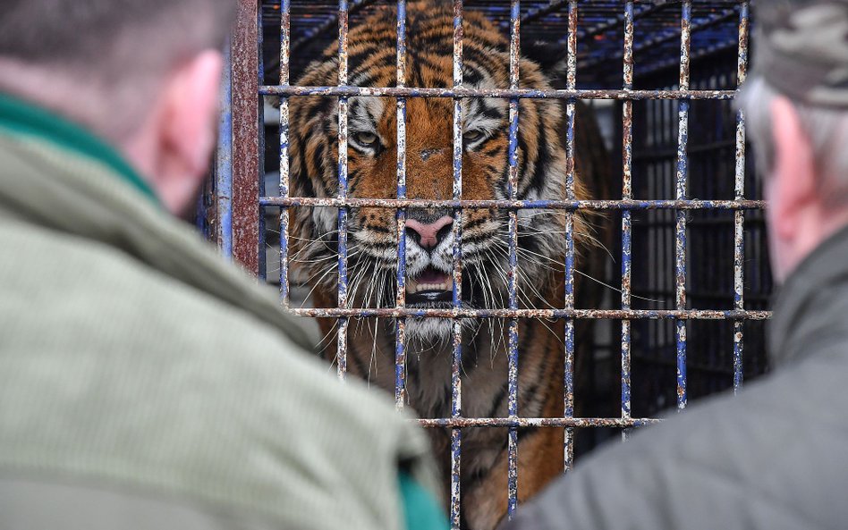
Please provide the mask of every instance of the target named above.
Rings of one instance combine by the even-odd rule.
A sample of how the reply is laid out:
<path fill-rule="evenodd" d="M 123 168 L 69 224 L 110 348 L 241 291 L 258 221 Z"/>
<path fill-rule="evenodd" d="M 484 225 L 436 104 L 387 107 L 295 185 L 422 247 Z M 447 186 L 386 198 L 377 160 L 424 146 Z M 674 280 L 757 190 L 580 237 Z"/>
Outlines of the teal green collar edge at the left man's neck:
<path fill-rule="evenodd" d="M 142 195 L 155 203 L 159 202 L 148 183 L 113 147 L 81 125 L 44 108 L 0 93 L 0 134 L 47 140 L 58 147 L 93 158 L 106 164 L 114 175 L 140 191 Z"/>

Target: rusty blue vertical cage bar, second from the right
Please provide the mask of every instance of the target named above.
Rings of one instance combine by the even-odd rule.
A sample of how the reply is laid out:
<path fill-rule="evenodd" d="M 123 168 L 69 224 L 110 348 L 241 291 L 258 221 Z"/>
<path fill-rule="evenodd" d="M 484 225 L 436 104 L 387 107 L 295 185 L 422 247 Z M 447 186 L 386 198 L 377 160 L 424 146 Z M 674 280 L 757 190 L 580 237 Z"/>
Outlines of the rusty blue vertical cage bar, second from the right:
<path fill-rule="evenodd" d="M 684 0 L 681 11 L 680 35 L 680 89 L 689 89 L 689 49 L 691 41 L 691 0 Z M 689 141 L 689 100 L 681 99 L 677 112 L 677 174 L 675 197 L 686 198 L 686 176 L 689 159 L 687 144 Z M 674 278 L 677 309 L 686 308 L 686 212 L 677 210 L 674 246 Z M 686 408 L 686 321 L 676 319 L 677 327 L 677 409 Z"/>

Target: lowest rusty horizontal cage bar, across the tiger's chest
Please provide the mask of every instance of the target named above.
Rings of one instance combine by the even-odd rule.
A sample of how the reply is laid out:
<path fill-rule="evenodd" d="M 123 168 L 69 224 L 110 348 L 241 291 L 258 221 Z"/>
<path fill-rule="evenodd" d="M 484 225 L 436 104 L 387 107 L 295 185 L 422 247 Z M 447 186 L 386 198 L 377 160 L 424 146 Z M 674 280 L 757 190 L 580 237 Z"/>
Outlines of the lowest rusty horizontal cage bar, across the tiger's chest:
<path fill-rule="evenodd" d="M 412 420 L 422 427 L 641 427 L 661 423 L 652 417 L 437 417 Z"/>

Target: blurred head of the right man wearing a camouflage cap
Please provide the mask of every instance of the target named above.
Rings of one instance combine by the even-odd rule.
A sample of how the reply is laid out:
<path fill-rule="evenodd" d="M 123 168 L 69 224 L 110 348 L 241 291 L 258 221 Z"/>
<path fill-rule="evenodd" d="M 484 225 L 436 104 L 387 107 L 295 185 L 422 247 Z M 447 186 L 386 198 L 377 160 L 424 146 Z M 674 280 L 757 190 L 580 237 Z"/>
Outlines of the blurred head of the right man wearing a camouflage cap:
<path fill-rule="evenodd" d="M 848 225 L 848 0 L 768 0 L 742 91 L 783 281 Z"/>

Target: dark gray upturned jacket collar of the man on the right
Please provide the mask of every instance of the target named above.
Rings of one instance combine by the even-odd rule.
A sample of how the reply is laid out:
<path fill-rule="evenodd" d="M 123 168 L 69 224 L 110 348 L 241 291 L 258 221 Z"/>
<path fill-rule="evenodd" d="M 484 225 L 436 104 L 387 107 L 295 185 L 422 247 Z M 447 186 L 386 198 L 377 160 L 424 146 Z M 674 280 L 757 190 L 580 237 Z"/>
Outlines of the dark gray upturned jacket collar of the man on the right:
<path fill-rule="evenodd" d="M 775 365 L 806 357 L 812 341 L 844 327 L 848 299 L 848 226 L 821 243 L 777 293 L 767 341 Z"/>

